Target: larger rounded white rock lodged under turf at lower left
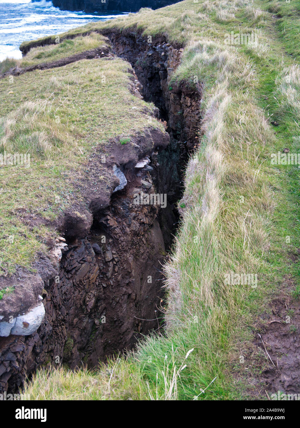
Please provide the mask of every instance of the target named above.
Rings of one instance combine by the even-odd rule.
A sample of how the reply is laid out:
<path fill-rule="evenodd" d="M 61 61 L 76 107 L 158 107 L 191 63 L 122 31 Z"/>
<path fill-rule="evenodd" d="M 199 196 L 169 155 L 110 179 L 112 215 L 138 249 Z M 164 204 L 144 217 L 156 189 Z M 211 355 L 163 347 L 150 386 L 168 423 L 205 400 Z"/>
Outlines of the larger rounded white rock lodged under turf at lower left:
<path fill-rule="evenodd" d="M 45 316 L 45 308 L 43 303 L 35 306 L 25 315 L 17 317 L 14 327 L 10 331 L 10 334 L 16 334 L 18 336 L 29 336 L 38 330 Z"/>

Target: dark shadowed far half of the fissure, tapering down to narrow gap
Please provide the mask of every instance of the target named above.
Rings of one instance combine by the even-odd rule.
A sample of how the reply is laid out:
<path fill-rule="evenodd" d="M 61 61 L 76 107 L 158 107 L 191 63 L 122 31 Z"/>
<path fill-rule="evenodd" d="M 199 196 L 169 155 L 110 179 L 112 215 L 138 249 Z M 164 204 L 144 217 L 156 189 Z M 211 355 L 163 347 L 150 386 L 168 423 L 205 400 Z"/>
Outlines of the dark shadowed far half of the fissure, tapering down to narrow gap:
<path fill-rule="evenodd" d="M 156 189 L 168 194 L 167 208 L 160 210 L 158 215 L 168 250 L 178 224 L 178 212 L 174 207 L 183 190 L 182 170 L 189 153 L 199 142 L 201 87 L 200 84 L 172 81 L 180 63 L 182 45 L 168 43 L 165 36 L 149 38 L 132 29 L 121 32 L 109 29 L 101 33 L 109 38 L 115 53 L 130 62 L 141 84 L 141 95 L 145 101 L 155 104 L 158 111 L 154 114 L 170 135 L 166 150 L 153 159 L 154 165 L 159 166 L 153 176 Z M 193 83 L 197 83 L 197 76 Z M 150 171 L 151 168 L 149 166 Z"/>

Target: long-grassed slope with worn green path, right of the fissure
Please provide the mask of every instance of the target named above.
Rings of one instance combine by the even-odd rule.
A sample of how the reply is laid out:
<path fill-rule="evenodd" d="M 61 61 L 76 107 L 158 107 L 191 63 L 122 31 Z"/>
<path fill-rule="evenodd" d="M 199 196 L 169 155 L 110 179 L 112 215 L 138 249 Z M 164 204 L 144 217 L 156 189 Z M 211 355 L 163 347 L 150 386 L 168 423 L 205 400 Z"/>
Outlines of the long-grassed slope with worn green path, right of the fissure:
<path fill-rule="evenodd" d="M 283 18 L 293 21 L 285 36 L 267 9 L 296 12 L 292 2 L 274 3 L 186 0 L 102 24 L 136 24 L 145 36 L 184 42 L 174 79 L 203 83 L 202 144 L 188 165 L 182 225 L 165 268 L 167 336 L 145 339 L 127 360 L 93 374 L 38 372 L 26 390 L 32 398 L 245 398 L 253 361 L 241 364 L 240 355 L 253 321 L 286 275 L 299 279 L 288 263 L 299 245 L 299 169 L 270 161 L 284 147 L 299 152 L 299 20 Z M 224 45 L 231 30 L 257 32 L 257 48 Z M 226 285 L 230 271 L 257 273 L 257 288 Z"/>

